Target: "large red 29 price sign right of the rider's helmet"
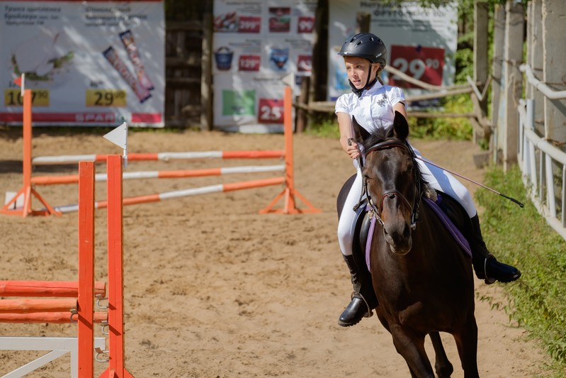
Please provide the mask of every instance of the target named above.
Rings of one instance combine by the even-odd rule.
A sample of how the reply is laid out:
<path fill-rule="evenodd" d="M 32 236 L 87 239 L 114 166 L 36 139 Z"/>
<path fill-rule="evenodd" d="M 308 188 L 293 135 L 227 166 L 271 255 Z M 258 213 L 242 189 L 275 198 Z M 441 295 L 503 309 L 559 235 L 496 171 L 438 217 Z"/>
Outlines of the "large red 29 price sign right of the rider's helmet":
<path fill-rule="evenodd" d="M 391 65 L 404 74 L 432 85 L 442 85 L 444 67 L 443 48 L 424 48 L 422 46 L 391 46 Z M 392 75 L 390 84 L 404 88 L 418 88 Z"/>

